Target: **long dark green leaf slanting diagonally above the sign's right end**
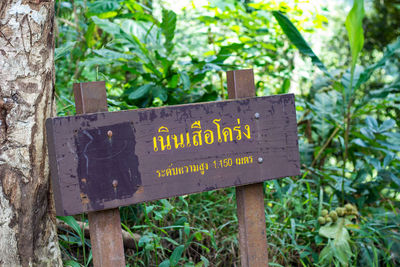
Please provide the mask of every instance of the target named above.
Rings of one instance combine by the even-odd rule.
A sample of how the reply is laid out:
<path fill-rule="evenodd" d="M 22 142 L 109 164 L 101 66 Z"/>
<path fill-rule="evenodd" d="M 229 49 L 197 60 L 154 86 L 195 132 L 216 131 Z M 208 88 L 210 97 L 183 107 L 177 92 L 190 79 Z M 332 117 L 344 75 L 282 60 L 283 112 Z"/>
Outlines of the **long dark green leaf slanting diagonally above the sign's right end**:
<path fill-rule="evenodd" d="M 300 32 L 293 25 L 293 23 L 279 11 L 272 11 L 272 15 L 274 15 L 283 32 L 286 34 L 292 44 L 296 46 L 302 54 L 309 56 L 314 65 L 316 65 L 321 71 L 323 71 L 326 75 L 333 79 L 328 69 L 325 67 L 324 63 L 322 63 L 317 55 L 315 55 L 314 51 L 307 44 L 303 36 L 301 36 Z"/>

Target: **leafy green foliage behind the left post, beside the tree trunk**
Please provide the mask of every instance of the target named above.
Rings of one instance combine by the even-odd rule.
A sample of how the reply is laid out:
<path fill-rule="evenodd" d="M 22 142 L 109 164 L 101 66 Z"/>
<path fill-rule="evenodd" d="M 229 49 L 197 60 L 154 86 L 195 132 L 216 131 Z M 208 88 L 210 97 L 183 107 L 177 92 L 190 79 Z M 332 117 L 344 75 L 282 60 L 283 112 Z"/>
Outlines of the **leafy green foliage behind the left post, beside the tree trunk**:
<path fill-rule="evenodd" d="M 159 21 L 133 0 L 84 3 L 56 6 L 63 23 L 58 39 L 63 44 L 56 50 L 56 60 L 58 66 L 65 66 L 57 71 L 60 114 L 73 111 L 70 88 L 77 81 L 105 79 L 111 110 L 218 98 L 210 74 L 220 71 L 237 47 L 226 46 L 215 58 L 191 55 L 183 61 L 186 55 L 174 41 L 177 16 L 173 11 L 162 9 Z"/>

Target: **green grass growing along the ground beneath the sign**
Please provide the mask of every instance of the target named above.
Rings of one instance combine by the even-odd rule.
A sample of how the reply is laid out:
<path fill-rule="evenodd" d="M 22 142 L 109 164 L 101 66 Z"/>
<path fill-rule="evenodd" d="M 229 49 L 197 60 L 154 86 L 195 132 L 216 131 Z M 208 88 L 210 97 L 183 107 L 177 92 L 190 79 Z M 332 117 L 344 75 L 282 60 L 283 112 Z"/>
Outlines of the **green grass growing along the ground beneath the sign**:
<path fill-rule="evenodd" d="M 318 264 L 327 240 L 318 234 L 317 218 L 322 208 L 335 208 L 338 201 L 311 178 L 264 184 L 271 266 L 329 266 Z M 350 266 L 368 257 L 374 266 L 396 266 L 399 255 L 391 253 L 400 244 L 400 222 L 393 211 L 369 208 L 368 218 L 357 222 Z M 136 250 L 125 251 L 127 266 L 240 266 L 234 188 L 121 207 L 120 213 L 122 227 L 141 236 Z M 73 217 L 65 218 L 74 225 Z M 86 221 L 83 215 L 79 219 Z M 73 229 L 59 231 L 64 262 L 90 266 L 90 241 L 79 227 Z"/>

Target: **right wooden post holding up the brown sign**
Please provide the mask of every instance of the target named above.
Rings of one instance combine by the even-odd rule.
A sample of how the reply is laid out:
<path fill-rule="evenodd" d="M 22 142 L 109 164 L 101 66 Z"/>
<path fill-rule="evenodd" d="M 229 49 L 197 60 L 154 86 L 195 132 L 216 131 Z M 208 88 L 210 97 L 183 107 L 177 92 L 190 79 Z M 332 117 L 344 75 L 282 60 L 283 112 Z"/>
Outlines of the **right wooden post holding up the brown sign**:
<path fill-rule="evenodd" d="M 229 98 L 255 96 L 252 69 L 228 71 Z M 268 266 L 263 184 L 236 187 L 239 249 L 242 267 Z"/>

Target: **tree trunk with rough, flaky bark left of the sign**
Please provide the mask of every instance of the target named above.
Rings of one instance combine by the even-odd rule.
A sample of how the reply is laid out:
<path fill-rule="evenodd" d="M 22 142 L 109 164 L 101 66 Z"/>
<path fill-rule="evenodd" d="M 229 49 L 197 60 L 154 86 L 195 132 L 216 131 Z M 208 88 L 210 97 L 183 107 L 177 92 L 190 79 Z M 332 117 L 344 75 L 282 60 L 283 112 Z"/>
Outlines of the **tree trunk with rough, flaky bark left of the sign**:
<path fill-rule="evenodd" d="M 45 118 L 54 115 L 53 0 L 0 1 L 0 266 L 61 266 Z"/>

